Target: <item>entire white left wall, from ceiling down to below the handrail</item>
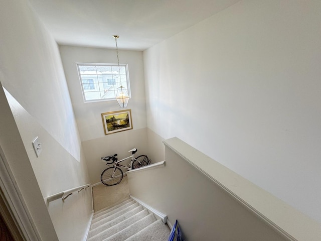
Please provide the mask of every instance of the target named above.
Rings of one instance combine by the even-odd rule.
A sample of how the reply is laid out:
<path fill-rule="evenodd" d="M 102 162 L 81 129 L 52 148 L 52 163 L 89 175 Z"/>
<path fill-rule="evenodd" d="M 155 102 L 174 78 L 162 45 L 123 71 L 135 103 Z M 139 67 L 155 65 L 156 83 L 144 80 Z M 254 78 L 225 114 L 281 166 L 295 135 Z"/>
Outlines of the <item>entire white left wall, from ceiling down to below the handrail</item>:
<path fill-rule="evenodd" d="M 7 99 L 44 204 L 43 198 L 49 195 L 90 182 L 58 46 L 22 0 L 3 1 L 0 32 L 0 81 L 8 90 Z M 32 146 L 37 136 L 43 148 L 38 158 Z M 70 240 L 70 234 L 81 240 L 91 204 L 75 202 L 75 208 L 82 210 L 81 218 L 67 221 L 72 210 L 60 203 L 50 213 L 52 219 L 60 220 L 60 226 L 54 223 L 59 240 Z"/>

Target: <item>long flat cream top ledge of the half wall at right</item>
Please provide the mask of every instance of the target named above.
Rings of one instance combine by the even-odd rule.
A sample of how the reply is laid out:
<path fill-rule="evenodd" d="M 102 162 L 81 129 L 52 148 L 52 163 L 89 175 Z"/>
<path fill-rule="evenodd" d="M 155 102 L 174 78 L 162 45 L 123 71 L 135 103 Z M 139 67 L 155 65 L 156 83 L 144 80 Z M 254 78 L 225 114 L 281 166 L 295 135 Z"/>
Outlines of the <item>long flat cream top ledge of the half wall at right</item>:
<path fill-rule="evenodd" d="M 319 222 L 178 138 L 164 140 L 171 150 L 288 240 L 320 240 Z"/>

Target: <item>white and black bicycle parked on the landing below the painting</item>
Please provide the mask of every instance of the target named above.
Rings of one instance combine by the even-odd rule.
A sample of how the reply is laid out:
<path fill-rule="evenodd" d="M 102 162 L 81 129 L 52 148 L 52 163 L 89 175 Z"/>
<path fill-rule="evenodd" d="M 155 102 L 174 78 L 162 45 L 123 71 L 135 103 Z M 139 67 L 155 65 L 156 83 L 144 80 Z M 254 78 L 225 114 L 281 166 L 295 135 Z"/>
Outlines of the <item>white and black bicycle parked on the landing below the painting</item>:
<path fill-rule="evenodd" d="M 119 167 L 125 168 L 127 171 L 130 171 L 135 168 L 139 168 L 142 166 L 147 166 L 150 164 L 151 160 L 148 160 L 148 157 L 146 155 L 140 155 L 137 158 L 134 157 L 134 154 L 137 152 L 137 148 L 133 148 L 129 150 L 128 152 L 131 152 L 131 155 L 129 157 L 126 157 L 124 159 L 121 159 L 119 161 L 116 157 L 117 154 L 114 154 L 113 156 L 106 156 L 101 157 L 103 161 L 106 162 L 106 165 L 113 164 L 113 167 L 106 168 L 100 175 L 101 182 L 106 186 L 113 186 L 120 183 L 122 180 L 124 174 L 123 171 Z M 119 164 L 120 162 L 123 162 L 127 160 L 128 158 L 131 158 L 129 166 L 124 166 Z"/>

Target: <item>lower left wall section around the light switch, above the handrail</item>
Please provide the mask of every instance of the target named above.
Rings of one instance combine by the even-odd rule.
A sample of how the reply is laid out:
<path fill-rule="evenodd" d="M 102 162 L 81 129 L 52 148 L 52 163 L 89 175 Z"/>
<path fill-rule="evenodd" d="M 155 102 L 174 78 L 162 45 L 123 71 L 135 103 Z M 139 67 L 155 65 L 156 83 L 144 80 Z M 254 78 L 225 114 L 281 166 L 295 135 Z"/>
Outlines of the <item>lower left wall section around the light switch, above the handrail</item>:
<path fill-rule="evenodd" d="M 9 92 L 5 93 L 43 197 L 90 183 L 83 150 L 78 162 Z M 32 145 L 37 136 L 42 147 L 38 158 Z"/>

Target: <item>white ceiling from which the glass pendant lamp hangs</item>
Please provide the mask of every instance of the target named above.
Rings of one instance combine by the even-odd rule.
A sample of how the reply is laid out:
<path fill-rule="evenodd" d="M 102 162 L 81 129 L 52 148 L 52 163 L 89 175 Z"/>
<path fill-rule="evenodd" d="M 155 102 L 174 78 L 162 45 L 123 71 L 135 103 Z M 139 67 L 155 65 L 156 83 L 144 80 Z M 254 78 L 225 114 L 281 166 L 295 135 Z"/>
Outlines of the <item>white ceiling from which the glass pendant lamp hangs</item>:
<path fill-rule="evenodd" d="M 145 50 L 240 0 L 29 0 L 58 44 Z"/>

